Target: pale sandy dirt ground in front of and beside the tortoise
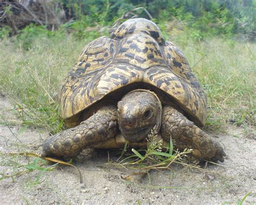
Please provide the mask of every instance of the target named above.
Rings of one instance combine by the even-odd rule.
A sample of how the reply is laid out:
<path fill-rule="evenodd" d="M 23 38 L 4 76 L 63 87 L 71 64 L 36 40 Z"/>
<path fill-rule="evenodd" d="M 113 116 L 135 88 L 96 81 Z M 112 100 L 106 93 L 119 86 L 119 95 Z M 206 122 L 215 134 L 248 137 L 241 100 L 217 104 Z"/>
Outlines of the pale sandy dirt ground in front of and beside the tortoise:
<path fill-rule="evenodd" d="M 1 122 L 17 124 L 13 106 L 0 95 Z M 41 152 L 43 140 L 48 136 L 44 129 L 6 126 L 0 124 L 0 151 Z M 79 183 L 76 169 L 62 166 L 45 172 L 42 183 L 35 180 L 39 171 L 26 173 L 0 181 L 1 204 L 236 204 L 247 193 L 244 204 L 256 203 L 256 138 L 252 133 L 236 126 L 225 127 L 224 133 L 213 133 L 227 154 L 223 163 L 208 164 L 205 170 L 173 165 L 172 170 L 152 171 L 151 182 L 147 175 L 137 175 L 131 181 L 133 171 L 107 164 L 106 151 L 92 151 L 76 160 L 84 182 Z M 2 156 L 0 160 L 3 160 Z M 117 156 L 110 155 L 114 161 Z M 32 160 L 32 159 L 31 159 Z M 28 163 L 25 157 L 22 163 Z M 2 165 L 2 162 L 1 162 Z M 0 173 L 11 175 L 12 167 L 0 166 Z M 1 176 L 1 175 L 0 175 Z"/>

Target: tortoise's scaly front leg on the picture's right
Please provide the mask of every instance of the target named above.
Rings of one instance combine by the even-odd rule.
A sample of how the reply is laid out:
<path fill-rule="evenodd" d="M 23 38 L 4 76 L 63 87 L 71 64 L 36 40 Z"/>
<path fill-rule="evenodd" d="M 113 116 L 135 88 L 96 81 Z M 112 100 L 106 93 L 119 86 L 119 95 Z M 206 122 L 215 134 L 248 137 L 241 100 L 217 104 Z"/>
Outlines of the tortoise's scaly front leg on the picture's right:
<path fill-rule="evenodd" d="M 193 149 L 194 158 L 223 162 L 226 156 L 218 142 L 171 106 L 163 108 L 161 134 L 166 141 L 172 138 L 174 148 L 180 151 Z"/>

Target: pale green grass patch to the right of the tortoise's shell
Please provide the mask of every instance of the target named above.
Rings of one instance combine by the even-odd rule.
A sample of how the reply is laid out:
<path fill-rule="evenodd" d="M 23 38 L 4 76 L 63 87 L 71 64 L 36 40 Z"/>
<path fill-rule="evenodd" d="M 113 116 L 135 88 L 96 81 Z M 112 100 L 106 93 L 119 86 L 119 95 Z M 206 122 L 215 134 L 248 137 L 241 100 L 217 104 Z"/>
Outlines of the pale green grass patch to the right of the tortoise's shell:
<path fill-rule="evenodd" d="M 207 125 L 255 126 L 256 44 L 211 39 L 182 47 L 207 93 Z"/>

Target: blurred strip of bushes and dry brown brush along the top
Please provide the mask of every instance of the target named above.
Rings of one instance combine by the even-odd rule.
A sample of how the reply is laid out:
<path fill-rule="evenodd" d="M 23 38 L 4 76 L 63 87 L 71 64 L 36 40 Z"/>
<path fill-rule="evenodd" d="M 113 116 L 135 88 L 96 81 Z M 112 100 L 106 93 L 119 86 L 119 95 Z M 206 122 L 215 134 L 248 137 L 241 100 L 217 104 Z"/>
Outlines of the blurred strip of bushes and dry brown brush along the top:
<path fill-rule="evenodd" d="M 185 32 L 194 40 L 254 41 L 256 34 L 255 0 L 16 0 L 0 1 L 0 38 L 16 36 L 25 49 L 45 36 L 94 39 L 135 17 L 153 20 L 164 35 Z"/>

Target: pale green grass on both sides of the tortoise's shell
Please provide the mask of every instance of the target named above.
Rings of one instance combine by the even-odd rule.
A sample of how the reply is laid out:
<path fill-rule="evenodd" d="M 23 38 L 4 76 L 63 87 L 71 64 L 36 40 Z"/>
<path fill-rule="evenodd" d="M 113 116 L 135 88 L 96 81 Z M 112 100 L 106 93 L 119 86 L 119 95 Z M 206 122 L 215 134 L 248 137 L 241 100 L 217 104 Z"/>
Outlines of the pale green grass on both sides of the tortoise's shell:
<path fill-rule="evenodd" d="M 64 128 L 58 91 L 89 40 L 41 37 L 26 50 L 15 39 L 0 40 L 0 91 L 14 102 L 23 124 L 53 133 Z M 172 42 L 185 53 L 207 92 L 207 125 L 255 125 L 256 45 L 217 38 L 192 41 L 184 32 Z"/>

